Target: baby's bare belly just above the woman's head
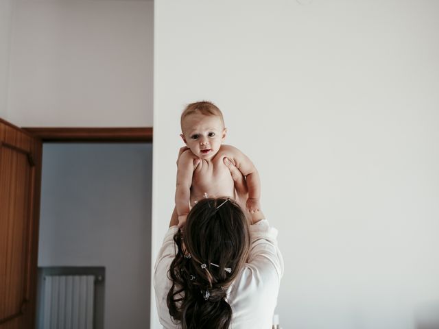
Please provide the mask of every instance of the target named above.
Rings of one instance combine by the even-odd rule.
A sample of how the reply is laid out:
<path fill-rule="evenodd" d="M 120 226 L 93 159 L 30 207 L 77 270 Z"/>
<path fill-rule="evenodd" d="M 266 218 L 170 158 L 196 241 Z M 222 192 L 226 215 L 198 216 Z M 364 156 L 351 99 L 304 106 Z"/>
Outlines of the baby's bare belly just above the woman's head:
<path fill-rule="evenodd" d="M 235 199 L 235 184 L 230 171 L 224 173 L 194 173 L 191 186 L 191 203 L 204 197 L 232 197 Z"/>

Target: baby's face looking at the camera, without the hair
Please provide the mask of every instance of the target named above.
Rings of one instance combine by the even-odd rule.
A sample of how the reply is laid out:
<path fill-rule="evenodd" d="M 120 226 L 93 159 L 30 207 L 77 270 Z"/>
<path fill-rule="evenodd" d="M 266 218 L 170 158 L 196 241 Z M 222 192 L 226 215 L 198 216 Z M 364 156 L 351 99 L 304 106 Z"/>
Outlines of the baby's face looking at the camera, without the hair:
<path fill-rule="evenodd" d="M 189 114 L 182 122 L 182 131 L 181 137 L 187 147 L 195 156 L 206 160 L 217 154 L 226 138 L 226 128 L 214 115 Z"/>

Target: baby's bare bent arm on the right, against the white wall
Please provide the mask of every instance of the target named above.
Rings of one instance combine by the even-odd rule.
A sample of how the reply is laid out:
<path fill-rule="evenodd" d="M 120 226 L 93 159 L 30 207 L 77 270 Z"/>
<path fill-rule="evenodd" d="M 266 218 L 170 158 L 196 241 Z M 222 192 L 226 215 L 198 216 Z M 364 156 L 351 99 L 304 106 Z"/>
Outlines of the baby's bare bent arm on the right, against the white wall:
<path fill-rule="evenodd" d="M 259 211 L 261 204 L 259 199 L 261 197 L 261 180 L 259 180 L 259 173 L 254 167 L 253 162 L 239 149 L 230 145 L 224 145 L 226 147 L 226 154 L 229 154 L 229 158 L 235 162 L 235 166 L 241 173 L 246 176 L 248 186 L 248 199 L 246 207 L 250 212 Z"/>

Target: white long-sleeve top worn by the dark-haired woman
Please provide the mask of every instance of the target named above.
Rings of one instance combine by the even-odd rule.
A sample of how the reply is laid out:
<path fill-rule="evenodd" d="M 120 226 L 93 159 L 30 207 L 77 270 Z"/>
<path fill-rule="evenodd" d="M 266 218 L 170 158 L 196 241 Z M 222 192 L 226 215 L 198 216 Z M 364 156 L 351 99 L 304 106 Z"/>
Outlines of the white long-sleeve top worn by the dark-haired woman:
<path fill-rule="evenodd" d="M 172 226 L 165 234 L 154 267 L 154 289 L 158 317 L 163 328 L 181 328 L 167 308 L 171 280 L 167 273 L 176 256 L 173 240 L 178 228 Z M 232 308 L 232 329 L 269 329 L 276 307 L 279 285 L 283 276 L 283 258 L 277 247 L 277 230 L 267 220 L 250 226 L 250 254 L 241 274 L 230 284 L 226 300 Z"/>

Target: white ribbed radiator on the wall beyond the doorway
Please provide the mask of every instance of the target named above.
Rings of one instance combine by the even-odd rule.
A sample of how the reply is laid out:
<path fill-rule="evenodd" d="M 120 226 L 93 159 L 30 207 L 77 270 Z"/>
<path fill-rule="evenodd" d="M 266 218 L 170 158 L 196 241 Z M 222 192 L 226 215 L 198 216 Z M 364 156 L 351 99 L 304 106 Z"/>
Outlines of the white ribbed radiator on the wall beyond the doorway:
<path fill-rule="evenodd" d="M 93 329 L 95 276 L 45 276 L 44 329 Z"/>

